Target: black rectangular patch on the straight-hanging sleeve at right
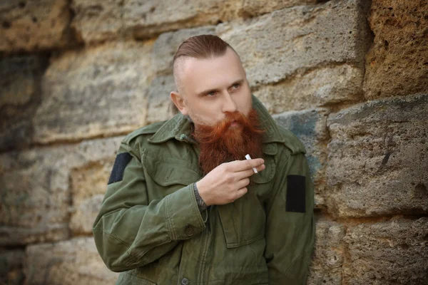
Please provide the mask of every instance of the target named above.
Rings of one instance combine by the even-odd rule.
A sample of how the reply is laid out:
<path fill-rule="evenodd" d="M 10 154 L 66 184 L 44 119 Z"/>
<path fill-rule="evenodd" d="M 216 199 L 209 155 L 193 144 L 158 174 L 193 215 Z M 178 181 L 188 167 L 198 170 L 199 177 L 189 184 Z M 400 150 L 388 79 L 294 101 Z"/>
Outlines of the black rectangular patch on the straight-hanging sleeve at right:
<path fill-rule="evenodd" d="M 305 212 L 306 177 L 302 175 L 287 176 L 287 200 L 285 211 Z"/>

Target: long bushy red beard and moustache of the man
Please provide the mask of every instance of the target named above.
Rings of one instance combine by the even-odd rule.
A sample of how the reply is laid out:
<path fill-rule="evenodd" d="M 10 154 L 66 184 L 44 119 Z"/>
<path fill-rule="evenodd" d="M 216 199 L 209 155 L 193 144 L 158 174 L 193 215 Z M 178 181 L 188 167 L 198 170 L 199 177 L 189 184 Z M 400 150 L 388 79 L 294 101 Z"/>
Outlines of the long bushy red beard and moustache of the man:
<path fill-rule="evenodd" d="M 248 117 L 236 111 L 214 126 L 197 125 L 193 137 L 199 142 L 199 166 L 204 175 L 223 162 L 262 157 L 262 138 L 258 113 L 250 110 Z M 235 122 L 233 125 L 232 123 Z"/>

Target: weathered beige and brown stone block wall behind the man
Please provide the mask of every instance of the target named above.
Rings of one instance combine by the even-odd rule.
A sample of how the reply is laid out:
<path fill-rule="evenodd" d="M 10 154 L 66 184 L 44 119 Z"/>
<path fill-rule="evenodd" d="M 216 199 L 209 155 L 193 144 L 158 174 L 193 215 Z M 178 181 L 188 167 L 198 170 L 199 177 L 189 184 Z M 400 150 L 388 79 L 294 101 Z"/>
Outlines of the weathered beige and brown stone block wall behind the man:
<path fill-rule="evenodd" d="M 307 147 L 307 283 L 427 284 L 427 0 L 1 1 L 0 284 L 114 283 L 91 225 L 115 152 L 170 118 L 200 33 Z"/>

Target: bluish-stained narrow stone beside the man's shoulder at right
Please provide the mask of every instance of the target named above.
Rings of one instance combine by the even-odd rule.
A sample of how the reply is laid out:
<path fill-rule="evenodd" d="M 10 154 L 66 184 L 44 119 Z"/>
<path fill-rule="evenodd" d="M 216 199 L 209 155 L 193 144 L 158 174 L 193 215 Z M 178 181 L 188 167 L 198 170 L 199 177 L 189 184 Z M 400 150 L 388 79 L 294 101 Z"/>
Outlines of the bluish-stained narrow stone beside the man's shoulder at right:
<path fill-rule="evenodd" d="M 324 207 L 325 144 L 328 140 L 326 109 L 284 112 L 273 118 L 282 128 L 290 130 L 306 147 L 312 180 L 315 185 L 315 207 Z"/>

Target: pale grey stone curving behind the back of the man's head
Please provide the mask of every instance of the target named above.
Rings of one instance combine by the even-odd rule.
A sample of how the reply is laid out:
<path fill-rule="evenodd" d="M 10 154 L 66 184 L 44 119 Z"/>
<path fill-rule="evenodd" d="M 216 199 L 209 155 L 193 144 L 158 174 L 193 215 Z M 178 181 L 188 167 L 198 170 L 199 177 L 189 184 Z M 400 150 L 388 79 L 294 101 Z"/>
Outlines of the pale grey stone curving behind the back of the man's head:
<path fill-rule="evenodd" d="M 202 34 L 215 34 L 215 26 L 203 26 L 200 28 L 184 28 L 179 31 L 162 33 L 155 41 L 152 51 L 152 65 L 158 74 L 168 75 L 173 73 L 174 54 L 183 41 L 190 36 Z"/>

